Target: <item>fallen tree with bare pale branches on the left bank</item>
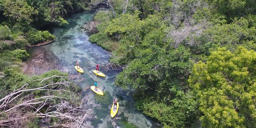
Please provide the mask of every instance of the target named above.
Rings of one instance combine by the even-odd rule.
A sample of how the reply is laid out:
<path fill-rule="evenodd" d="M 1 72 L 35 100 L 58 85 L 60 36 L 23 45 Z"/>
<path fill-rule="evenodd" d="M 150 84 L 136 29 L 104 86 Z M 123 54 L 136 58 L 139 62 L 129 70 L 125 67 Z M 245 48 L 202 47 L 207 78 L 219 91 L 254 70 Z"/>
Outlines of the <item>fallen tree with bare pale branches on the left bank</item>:
<path fill-rule="evenodd" d="M 93 108 L 99 104 L 81 97 L 81 88 L 70 82 L 78 77 L 36 79 L 8 93 L 0 99 L 0 126 L 24 127 L 37 118 L 47 127 L 91 127 Z"/>

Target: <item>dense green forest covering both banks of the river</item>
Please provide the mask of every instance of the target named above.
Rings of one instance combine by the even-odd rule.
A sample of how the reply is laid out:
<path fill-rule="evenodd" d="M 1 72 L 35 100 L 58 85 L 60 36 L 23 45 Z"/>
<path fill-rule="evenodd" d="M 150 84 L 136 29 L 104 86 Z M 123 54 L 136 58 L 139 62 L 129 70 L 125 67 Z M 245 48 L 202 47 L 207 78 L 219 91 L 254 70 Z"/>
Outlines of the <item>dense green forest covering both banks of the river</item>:
<path fill-rule="evenodd" d="M 68 25 L 68 13 L 90 9 L 98 10 L 90 41 L 125 67 L 115 84 L 138 110 L 164 128 L 256 128 L 252 0 L 0 0 L 0 126 L 38 127 L 44 117 L 61 126 L 61 116 L 87 125 L 79 110 L 97 104 L 81 104 L 90 100 L 68 74 L 29 77 L 19 67 L 27 47 L 54 40 L 45 26 Z"/>

